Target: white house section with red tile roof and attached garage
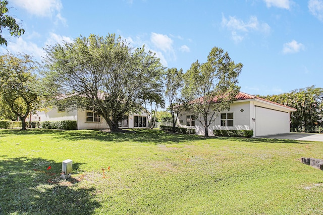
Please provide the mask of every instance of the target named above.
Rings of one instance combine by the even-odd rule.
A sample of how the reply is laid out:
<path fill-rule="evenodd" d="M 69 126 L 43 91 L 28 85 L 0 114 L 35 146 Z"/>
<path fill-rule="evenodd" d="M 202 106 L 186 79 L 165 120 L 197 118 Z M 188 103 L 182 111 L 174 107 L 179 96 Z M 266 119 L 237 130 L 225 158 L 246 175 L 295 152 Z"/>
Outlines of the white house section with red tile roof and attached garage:
<path fill-rule="evenodd" d="M 265 136 L 290 132 L 290 112 L 296 109 L 240 92 L 230 105 L 216 117 L 208 128 L 214 135 L 215 129 L 253 130 L 253 136 Z M 178 116 L 179 126 L 195 128 L 196 134 L 204 135 L 205 128 L 195 120 L 189 110 Z"/>

